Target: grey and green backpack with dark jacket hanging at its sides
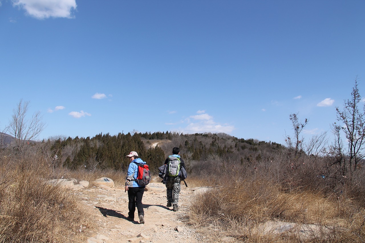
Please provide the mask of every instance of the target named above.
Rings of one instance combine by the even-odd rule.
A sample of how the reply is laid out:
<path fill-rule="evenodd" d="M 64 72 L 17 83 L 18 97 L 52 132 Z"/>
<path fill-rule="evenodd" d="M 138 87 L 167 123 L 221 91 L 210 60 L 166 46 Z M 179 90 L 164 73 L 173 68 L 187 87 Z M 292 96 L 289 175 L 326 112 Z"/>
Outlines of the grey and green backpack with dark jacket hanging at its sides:
<path fill-rule="evenodd" d="M 170 166 L 171 163 L 176 164 L 177 161 L 178 161 L 178 167 L 177 167 L 178 171 L 177 171 L 176 174 L 171 175 L 171 171 L 169 170 L 169 166 Z M 180 155 L 177 155 L 177 154 L 170 155 L 168 158 L 166 158 L 164 165 L 160 166 L 158 168 L 158 170 L 159 170 L 158 175 L 163 179 L 162 182 L 164 184 L 166 184 L 166 181 L 167 181 L 168 177 L 178 177 L 178 178 L 180 178 L 180 180 L 185 180 L 185 178 L 187 178 L 187 173 L 186 173 L 186 169 L 185 169 L 185 162 L 180 157 Z M 175 173 L 176 167 L 174 167 L 172 170 L 174 170 L 173 173 Z"/>

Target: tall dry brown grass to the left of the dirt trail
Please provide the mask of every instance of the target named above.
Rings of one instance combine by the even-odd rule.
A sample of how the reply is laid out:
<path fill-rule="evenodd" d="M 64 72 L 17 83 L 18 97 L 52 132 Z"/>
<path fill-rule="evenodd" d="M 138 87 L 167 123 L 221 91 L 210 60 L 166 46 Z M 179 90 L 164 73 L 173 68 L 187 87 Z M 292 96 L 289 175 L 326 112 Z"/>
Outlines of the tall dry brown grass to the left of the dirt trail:
<path fill-rule="evenodd" d="M 0 242 L 84 242 L 93 227 L 74 192 L 50 186 L 42 158 L 0 158 Z"/>

